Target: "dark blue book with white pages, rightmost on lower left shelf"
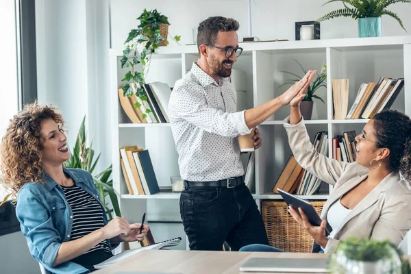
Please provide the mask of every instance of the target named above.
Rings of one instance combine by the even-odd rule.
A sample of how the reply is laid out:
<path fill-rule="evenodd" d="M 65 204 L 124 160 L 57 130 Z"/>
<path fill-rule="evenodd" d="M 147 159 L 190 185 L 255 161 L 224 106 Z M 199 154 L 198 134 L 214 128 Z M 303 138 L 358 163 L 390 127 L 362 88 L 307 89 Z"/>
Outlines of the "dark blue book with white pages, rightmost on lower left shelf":
<path fill-rule="evenodd" d="M 153 164 L 151 163 L 149 151 L 134 151 L 133 157 L 134 162 L 136 162 L 138 174 L 140 175 L 140 180 L 145 195 L 153 195 L 157 192 L 160 192 L 157 179 L 155 178 L 155 173 L 153 169 Z"/>

